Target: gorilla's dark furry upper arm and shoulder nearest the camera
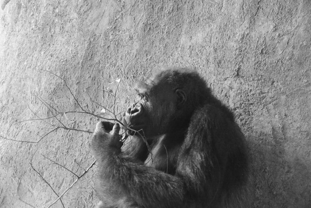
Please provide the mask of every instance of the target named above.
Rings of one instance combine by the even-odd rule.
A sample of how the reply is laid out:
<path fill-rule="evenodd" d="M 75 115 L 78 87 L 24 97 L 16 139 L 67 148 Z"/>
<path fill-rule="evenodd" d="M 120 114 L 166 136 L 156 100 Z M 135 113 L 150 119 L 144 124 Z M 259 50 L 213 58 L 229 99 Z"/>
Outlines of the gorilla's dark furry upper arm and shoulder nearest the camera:
<path fill-rule="evenodd" d="M 206 201 L 213 207 L 217 200 L 227 162 L 225 120 L 223 113 L 210 105 L 193 113 L 176 169 L 188 190 L 186 201 Z M 221 129 L 222 126 L 225 128 Z M 189 174 L 189 170 L 193 172 Z"/>

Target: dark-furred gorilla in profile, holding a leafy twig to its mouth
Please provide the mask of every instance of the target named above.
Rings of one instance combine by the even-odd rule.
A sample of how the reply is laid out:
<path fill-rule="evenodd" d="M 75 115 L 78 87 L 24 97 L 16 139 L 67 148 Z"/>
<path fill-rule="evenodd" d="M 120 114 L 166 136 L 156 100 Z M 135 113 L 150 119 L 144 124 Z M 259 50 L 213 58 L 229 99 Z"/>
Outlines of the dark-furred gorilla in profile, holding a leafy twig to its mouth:
<path fill-rule="evenodd" d="M 120 126 L 98 122 L 98 207 L 249 207 L 249 162 L 233 113 L 199 74 L 167 68 L 138 82 Z"/>

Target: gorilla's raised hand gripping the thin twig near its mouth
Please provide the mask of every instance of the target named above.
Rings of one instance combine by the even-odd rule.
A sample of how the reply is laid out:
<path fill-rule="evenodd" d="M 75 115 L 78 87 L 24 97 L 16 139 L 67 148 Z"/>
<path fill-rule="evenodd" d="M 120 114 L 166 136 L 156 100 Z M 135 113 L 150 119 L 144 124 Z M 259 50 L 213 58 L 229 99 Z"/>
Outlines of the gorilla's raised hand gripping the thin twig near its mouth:
<path fill-rule="evenodd" d="M 120 149 L 122 142 L 120 142 L 121 135 L 119 135 L 120 125 L 113 124 L 108 121 L 100 121 L 96 124 L 95 131 L 92 138 L 92 146 L 106 146 L 106 148 Z M 110 132 L 110 133 L 109 133 Z"/>

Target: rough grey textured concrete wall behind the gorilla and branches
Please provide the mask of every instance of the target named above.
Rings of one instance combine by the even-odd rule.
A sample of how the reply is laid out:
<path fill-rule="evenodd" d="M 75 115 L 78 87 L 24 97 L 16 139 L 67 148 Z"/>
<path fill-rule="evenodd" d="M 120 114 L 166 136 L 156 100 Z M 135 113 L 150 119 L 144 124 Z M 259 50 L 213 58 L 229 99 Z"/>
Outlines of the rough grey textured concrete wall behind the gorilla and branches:
<path fill-rule="evenodd" d="M 233 109 L 252 159 L 253 207 L 311 207 L 309 0 L 20 1 L 0 13 L 0 136 L 38 141 L 60 112 L 133 100 L 133 83 L 162 66 L 195 66 Z M 41 70 L 43 69 L 43 70 Z M 28 107 L 29 106 L 29 107 Z M 98 119 L 60 117 L 92 131 Z M 21 122 L 22 121 L 22 122 Z M 37 144 L 0 138 L 0 206 L 47 207 L 94 160 L 90 133 L 57 129 Z M 47 158 L 45 158 L 45 157 Z M 96 166 L 63 196 L 65 207 L 96 204 Z M 54 207 L 62 207 L 60 201 Z"/>

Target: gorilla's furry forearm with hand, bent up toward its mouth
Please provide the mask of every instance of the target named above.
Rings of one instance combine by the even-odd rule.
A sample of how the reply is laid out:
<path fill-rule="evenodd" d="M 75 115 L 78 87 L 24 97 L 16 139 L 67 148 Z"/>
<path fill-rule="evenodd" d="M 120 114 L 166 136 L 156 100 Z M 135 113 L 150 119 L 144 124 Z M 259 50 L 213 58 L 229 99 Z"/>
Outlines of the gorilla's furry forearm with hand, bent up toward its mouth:
<path fill-rule="evenodd" d="M 139 206 L 181 207 L 184 182 L 134 162 L 136 159 L 121 152 L 118 140 L 118 127 L 110 134 L 97 128 L 94 132 L 91 148 L 99 163 L 101 178 L 109 180 L 123 196 L 131 197 Z"/>

